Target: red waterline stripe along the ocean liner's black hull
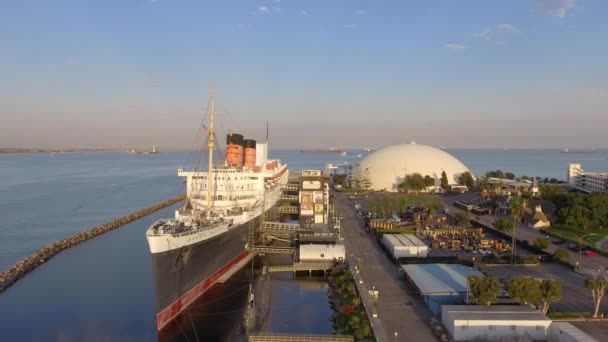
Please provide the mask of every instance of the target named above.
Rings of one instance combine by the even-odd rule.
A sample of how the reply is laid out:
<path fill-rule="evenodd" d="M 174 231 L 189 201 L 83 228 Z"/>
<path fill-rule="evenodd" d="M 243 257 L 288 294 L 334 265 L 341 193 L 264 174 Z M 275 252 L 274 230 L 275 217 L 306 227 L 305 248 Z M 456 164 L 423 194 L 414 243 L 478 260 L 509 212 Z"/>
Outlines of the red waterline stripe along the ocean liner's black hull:
<path fill-rule="evenodd" d="M 228 270 L 230 270 L 234 265 L 238 264 L 241 260 L 243 260 L 249 253 L 243 252 L 239 254 L 236 258 L 232 259 L 229 263 L 224 265 L 219 270 L 215 271 L 211 275 L 211 277 L 203 280 L 198 285 L 190 289 L 190 291 L 186 292 L 183 296 L 181 296 L 178 300 L 173 302 L 173 304 L 164 308 L 161 312 L 156 314 L 156 327 L 158 330 L 161 330 L 165 325 L 167 325 L 171 320 L 173 320 L 179 313 L 184 311 L 188 307 L 188 305 L 192 304 L 198 297 L 200 297 L 205 291 L 207 291 L 215 282 Z"/>

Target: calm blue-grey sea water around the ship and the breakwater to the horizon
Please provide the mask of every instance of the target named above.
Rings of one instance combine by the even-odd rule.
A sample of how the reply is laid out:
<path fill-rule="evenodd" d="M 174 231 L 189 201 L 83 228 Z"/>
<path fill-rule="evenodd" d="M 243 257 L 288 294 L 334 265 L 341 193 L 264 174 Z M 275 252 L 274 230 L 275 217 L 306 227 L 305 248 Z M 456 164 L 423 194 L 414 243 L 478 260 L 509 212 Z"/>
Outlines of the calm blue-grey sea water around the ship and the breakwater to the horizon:
<path fill-rule="evenodd" d="M 605 152 L 448 152 L 475 174 L 502 169 L 564 179 L 570 162 L 580 162 L 586 170 L 608 171 Z M 275 151 L 274 157 L 300 170 L 325 168 L 329 162 L 357 163 L 358 154 L 365 156 L 359 151 L 349 151 L 346 157 Z M 176 169 L 198 160 L 191 152 L 0 155 L 0 269 L 52 241 L 183 193 Z M 157 218 L 173 216 L 174 209 L 166 208 L 62 252 L 1 294 L 0 341 L 156 339 L 153 278 L 144 232 Z M 279 312 L 276 317 L 288 317 L 280 314 L 283 307 L 297 307 L 284 312 L 302 318 L 306 310 L 313 310 L 311 303 L 327 306 L 323 282 L 277 284 L 276 296 L 281 300 L 273 307 Z M 324 311 L 327 318 L 330 314 Z M 293 326 L 294 322 L 300 326 Z M 275 319 L 270 329 L 285 331 L 285 325 L 293 331 L 310 331 L 306 324 L 302 319 Z M 314 332 L 330 330 L 328 323 Z"/>

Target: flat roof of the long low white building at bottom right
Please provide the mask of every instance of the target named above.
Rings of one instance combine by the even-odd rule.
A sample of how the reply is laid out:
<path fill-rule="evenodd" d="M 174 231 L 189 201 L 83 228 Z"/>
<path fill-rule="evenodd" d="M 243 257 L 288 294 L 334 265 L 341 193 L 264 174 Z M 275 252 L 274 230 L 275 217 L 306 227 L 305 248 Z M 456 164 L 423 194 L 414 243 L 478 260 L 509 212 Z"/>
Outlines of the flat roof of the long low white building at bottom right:
<path fill-rule="evenodd" d="M 540 311 L 522 305 L 444 305 L 441 313 L 453 320 L 551 321 Z"/>

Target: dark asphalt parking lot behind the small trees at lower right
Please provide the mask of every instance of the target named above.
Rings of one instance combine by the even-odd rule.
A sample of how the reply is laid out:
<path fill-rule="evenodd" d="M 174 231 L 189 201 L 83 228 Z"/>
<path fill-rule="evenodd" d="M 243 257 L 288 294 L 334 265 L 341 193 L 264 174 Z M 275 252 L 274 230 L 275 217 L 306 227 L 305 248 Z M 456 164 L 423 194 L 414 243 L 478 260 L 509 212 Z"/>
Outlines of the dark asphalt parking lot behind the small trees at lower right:
<path fill-rule="evenodd" d="M 586 276 L 576 273 L 569 268 L 546 263 L 538 266 L 481 266 L 481 270 L 499 279 L 511 279 L 517 276 L 528 276 L 539 279 L 553 279 L 562 286 L 562 299 L 551 306 L 556 311 L 586 311 L 593 312 L 591 291 L 585 288 Z M 608 312 L 608 302 L 603 301 L 601 312 Z"/>

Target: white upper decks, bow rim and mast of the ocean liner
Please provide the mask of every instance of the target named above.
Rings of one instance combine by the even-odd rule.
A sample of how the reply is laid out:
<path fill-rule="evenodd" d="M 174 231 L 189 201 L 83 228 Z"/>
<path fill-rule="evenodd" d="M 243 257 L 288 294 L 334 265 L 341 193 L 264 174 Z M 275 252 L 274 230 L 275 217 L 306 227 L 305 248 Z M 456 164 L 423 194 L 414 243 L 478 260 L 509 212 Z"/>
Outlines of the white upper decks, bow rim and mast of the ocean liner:
<path fill-rule="evenodd" d="M 226 160 L 214 167 L 214 100 L 212 93 L 208 171 L 177 170 L 186 180 L 186 205 L 175 211 L 175 219 L 161 219 L 148 228 L 146 237 L 153 254 L 199 243 L 255 219 L 279 201 L 281 187 L 288 182 L 287 166 L 278 159 L 268 160 L 267 142 L 253 151 L 255 163 L 252 159 L 244 163 L 243 148 L 237 146 L 231 152 L 227 147 Z"/>

